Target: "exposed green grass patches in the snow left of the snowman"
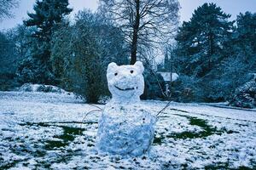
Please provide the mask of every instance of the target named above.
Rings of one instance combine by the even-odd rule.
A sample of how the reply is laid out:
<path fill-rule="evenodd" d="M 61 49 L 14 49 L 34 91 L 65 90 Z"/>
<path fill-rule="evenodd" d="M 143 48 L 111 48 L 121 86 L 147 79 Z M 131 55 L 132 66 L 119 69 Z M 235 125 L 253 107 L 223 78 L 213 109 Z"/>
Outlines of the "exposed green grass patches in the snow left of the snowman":
<path fill-rule="evenodd" d="M 78 155 L 79 150 L 67 150 L 65 148 L 68 144 L 72 143 L 73 140 L 79 136 L 83 135 L 85 128 L 81 127 L 69 127 L 64 125 L 56 125 L 55 123 L 47 123 L 47 122 L 26 122 L 20 124 L 20 126 L 26 127 L 61 127 L 63 132 L 61 134 L 53 136 L 52 140 L 44 140 L 40 141 L 41 144 L 35 144 L 33 147 L 36 149 L 36 152 L 30 152 L 30 150 L 26 150 L 23 148 L 15 148 L 13 151 L 17 155 L 30 154 L 35 157 L 44 157 L 47 156 L 47 150 L 62 150 L 61 154 L 56 153 L 55 157 L 50 158 L 48 161 L 39 161 L 36 165 L 36 169 L 43 167 L 45 169 L 51 169 L 50 166 L 53 163 L 67 162 L 72 156 Z M 14 162 L 15 163 L 15 162 Z M 8 167 L 15 167 L 14 163 L 10 163 Z M 2 168 L 0 168 L 2 169 Z"/>

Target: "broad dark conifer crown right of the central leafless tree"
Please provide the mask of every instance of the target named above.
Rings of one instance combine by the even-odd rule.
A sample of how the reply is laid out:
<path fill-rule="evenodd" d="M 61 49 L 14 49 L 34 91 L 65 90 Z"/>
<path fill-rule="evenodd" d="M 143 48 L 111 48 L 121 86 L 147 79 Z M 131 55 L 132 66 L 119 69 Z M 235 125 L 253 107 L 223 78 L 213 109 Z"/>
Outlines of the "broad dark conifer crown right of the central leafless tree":
<path fill-rule="evenodd" d="M 205 77 L 222 59 L 233 22 L 214 3 L 204 3 L 177 33 L 177 54 L 182 57 L 184 74 Z"/>

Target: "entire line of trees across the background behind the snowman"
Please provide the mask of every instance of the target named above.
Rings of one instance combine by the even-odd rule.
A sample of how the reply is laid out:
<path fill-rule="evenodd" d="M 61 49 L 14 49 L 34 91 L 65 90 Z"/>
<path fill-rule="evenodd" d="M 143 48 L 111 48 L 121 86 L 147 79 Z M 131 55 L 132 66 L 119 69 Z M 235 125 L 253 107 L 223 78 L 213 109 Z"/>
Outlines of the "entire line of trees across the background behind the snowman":
<path fill-rule="evenodd" d="M 230 20 L 230 14 L 216 4 L 205 3 L 177 27 L 179 4 L 172 1 L 169 8 L 156 8 L 163 14 L 170 9 L 172 20 L 165 16 L 162 22 L 158 11 L 150 27 L 149 21 L 131 16 L 132 8 L 119 11 L 124 14 L 117 20 L 108 13 L 112 4 L 104 2 L 96 12 L 80 11 L 69 20 L 72 8 L 67 0 L 36 1 L 35 12 L 28 14 L 23 25 L 0 32 L 0 89 L 26 82 L 52 84 L 96 102 L 108 95 L 105 75 L 109 62 L 122 65 L 140 59 L 146 67 L 143 98 L 164 99 L 163 79 L 152 69 L 159 51 L 166 54 L 161 70 L 179 75 L 171 86 L 172 99 L 177 101 L 225 101 L 256 72 L 256 14 L 247 12 Z M 149 17 L 153 16 L 146 19 Z M 136 27 L 133 20 L 144 23 Z"/>

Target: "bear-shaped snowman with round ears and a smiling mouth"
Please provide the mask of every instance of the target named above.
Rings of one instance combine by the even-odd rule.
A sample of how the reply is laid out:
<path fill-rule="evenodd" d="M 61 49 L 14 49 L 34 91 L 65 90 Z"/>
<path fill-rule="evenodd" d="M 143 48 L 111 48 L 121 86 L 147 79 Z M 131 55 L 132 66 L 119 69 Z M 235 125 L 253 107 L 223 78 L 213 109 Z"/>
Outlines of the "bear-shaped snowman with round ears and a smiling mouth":
<path fill-rule="evenodd" d="M 154 139 L 156 117 L 140 104 L 144 90 L 143 63 L 108 65 L 108 88 L 112 99 L 100 117 L 96 138 L 98 150 L 121 156 L 141 156 Z"/>

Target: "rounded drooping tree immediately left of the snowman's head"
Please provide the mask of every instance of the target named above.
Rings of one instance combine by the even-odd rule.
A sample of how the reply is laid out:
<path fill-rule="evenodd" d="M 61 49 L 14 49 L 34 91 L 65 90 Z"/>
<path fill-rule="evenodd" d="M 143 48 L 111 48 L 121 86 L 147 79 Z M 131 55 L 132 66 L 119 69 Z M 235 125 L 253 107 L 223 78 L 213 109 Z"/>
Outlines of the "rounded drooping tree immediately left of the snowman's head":
<path fill-rule="evenodd" d="M 51 62 L 61 85 L 89 103 L 108 94 L 108 63 L 127 63 L 124 38 L 112 23 L 99 14 L 82 11 L 73 26 L 64 25 L 54 37 Z"/>

